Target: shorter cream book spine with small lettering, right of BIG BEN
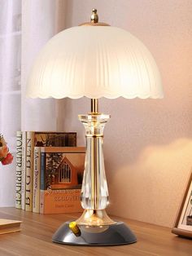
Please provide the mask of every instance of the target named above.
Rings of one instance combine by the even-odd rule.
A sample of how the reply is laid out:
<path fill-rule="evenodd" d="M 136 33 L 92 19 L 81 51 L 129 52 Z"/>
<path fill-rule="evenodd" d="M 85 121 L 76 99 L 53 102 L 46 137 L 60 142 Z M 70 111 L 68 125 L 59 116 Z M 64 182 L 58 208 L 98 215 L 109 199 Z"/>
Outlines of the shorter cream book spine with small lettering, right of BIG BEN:
<path fill-rule="evenodd" d="M 33 212 L 39 213 L 40 205 L 40 183 L 41 183 L 41 148 L 34 147 L 34 169 L 33 169 Z"/>

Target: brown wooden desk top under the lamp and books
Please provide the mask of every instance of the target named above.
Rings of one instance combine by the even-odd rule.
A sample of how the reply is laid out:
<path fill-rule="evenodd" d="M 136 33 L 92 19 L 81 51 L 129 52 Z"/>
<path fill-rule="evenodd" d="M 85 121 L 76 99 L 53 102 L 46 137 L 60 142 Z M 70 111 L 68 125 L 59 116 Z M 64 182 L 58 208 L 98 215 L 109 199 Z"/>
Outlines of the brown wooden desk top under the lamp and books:
<path fill-rule="evenodd" d="M 0 256 L 192 255 L 192 241 L 173 235 L 168 227 L 121 218 L 136 234 L 137 243 L 106 247 L 72 246 L 54 244 L 51 236 L 61 223 L 76 219 L 79 214 L 33 214 L 15 208 L 0 208 L 0 216 L 23 221 L 21 232 L 0 235 Z"/>

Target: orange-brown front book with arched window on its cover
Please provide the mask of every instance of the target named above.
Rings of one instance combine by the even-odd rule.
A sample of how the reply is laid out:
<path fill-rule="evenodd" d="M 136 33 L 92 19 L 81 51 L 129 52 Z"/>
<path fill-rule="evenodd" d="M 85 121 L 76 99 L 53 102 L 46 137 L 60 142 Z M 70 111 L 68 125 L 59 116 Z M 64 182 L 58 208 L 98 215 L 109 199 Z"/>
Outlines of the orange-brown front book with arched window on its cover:
<path fill-rule="evenodd" d="M 41 214 L 81 212 L 85 148 L 41 148 Z"/>

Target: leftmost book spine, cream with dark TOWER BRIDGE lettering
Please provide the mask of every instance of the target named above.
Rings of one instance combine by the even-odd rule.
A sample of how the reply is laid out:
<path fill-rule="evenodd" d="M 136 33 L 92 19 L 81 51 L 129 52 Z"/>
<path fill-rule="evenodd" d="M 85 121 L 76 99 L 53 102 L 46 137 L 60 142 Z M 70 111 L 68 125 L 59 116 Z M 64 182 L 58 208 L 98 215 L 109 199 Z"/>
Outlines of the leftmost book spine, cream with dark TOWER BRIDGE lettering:
<path fill-rule="evenodd" d="M 21 209 L 22 180 L 22 132 L 16 132 L 16 175 L 15 175 L 15 208 Z"/>

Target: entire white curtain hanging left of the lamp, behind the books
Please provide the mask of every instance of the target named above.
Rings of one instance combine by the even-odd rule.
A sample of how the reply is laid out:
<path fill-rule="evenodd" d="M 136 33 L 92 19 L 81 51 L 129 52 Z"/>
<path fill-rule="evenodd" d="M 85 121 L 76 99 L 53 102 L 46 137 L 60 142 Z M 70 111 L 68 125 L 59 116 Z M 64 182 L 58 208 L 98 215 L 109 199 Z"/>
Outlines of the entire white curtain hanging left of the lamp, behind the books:
<path fill-rule="evenodd" d="M 0 0 L 0 132 L 15 156 L 16 130 L 58 130 L 55 99 L 26 99 L 41 47 L 64 27 L 64 0 Z M 0 167 L 0 207 L 15 205 L 15 159 Z"/>

